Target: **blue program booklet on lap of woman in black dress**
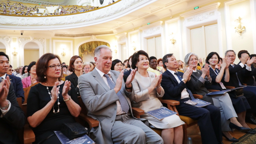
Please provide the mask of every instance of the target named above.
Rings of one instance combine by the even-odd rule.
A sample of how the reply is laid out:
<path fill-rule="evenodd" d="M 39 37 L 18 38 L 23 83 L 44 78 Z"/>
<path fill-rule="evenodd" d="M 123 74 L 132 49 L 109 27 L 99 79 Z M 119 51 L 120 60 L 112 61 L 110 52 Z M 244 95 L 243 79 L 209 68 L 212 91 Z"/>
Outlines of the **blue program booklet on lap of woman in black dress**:
<path fill-rule="evenodd" d="M 60 131 L 54 131 L 62 144 L 95 144 L 95 142 L 88 137 L 88 135 L 83 135 L 73 140 L 69 140 Z"/>

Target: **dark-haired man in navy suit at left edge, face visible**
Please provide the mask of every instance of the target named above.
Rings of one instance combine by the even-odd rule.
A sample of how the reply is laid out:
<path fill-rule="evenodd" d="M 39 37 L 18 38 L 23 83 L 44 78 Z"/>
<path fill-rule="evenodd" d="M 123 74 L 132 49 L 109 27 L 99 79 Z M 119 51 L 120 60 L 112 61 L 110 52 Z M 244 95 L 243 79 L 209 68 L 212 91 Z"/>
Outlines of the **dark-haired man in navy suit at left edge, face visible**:
<path fill-rule="evenodd" d="M 0 77 L 6 78 L 6 76 L 10 77 L 10 81 L 13 84 L 14 93 L 16 98 L 22 98 L 22 103 L 24 102 L 24 91 L 20 77 L 7 75 L 9 69 L 9 56 L 6 55 L 4 52 L 0 52 Z"/>

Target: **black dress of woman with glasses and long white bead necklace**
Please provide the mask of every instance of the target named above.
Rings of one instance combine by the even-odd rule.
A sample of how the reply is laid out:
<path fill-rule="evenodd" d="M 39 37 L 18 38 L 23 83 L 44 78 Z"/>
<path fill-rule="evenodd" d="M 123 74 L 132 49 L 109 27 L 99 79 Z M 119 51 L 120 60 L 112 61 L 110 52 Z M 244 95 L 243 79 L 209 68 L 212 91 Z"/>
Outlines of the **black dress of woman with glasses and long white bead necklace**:
<path fill-rule="evenodd" d="M 71 115 L 68 110 L 68 106 L 66 102 L 64 102 L 62 97 L 62 89 L 65 83 L 60 84 L 60 112 L 53 113 L 53 109 L 47 114 L 41 124 L 37 127 L 33 128 L 33 131 L 36 135 L 36 141 L 34 143 L 38 143 L 41 140 L 44 140 L 49 135 L 54 134 L 53 131 L 60 131 L 61 124 L 63 122 L 74 123 L 75 118 Z M 49 92 L 51 92 L 53 86 L 48 86 Z M 71 90 L 68 91 L 68 95 L 70 95 L 71 99 L 74 100 L 77 104 L 79 104 L 75 87 L 71 84 Z M 47 103 L 51 100 L 50 94 L 48 93 L 46 86 L 42 84 L 36 84 L 32 86 L 29 94 L 28 94 L 28 104 L 27 104 L 27 115 L 32 116 L 38 110 L 44 108 Z M 58 110 L 58 99 L 54 104 L 54 110 L 57 112 Z M 47 139 L 44 143 L 60 143 L 58 137 L 54 134 L 50 139 Z"/>

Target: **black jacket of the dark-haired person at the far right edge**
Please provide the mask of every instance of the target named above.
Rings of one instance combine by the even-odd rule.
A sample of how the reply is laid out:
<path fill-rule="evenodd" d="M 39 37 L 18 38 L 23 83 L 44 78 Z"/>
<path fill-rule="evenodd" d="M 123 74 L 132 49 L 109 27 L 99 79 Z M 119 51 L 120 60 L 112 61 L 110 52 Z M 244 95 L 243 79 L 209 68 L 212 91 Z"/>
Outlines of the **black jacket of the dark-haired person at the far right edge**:
<path fill-rule="evenodd" d="M 242 70 L 237 72 L 238 77 L 242 80 L 242 84 L 244 83 L 250 86 L 253 85 L 252 76 L 256 78 L 256 68 L 254 68 L 253 65 L 251 65 L 251 68 L 252 68 L 252 71 L 248 71 L 246 67 L 244 67 Z"/>

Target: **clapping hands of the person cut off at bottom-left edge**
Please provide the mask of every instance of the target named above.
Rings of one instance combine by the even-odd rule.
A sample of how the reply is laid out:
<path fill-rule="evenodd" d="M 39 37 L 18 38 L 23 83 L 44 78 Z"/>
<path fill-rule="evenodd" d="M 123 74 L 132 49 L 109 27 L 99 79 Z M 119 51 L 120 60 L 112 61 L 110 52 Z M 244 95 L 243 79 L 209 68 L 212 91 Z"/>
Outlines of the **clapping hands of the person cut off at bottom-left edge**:
<path fill-rule="evenodd" d="M 8 104 L 7 95 L 9 93 L 11 81 L 9 76 L 0 83 L 0 106 L 5 107 Z"/>

